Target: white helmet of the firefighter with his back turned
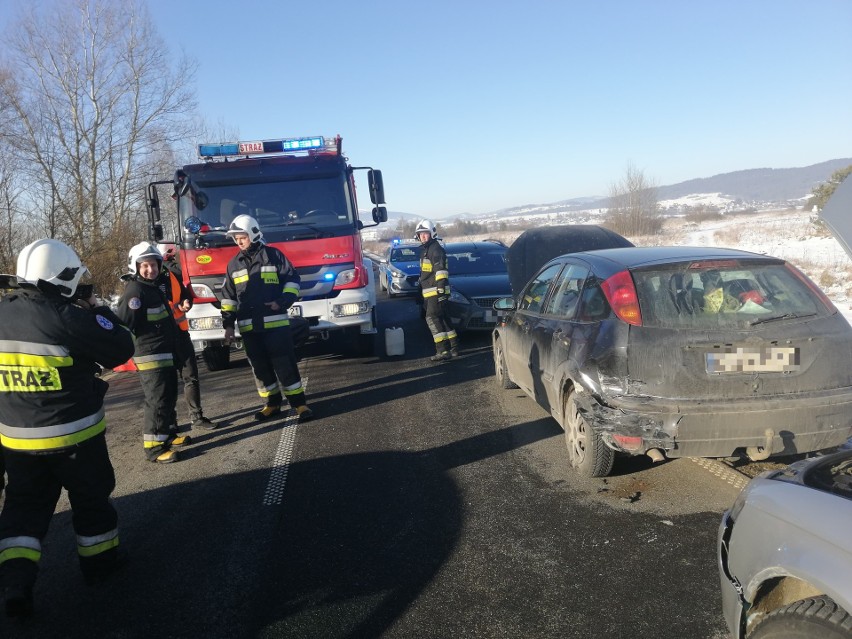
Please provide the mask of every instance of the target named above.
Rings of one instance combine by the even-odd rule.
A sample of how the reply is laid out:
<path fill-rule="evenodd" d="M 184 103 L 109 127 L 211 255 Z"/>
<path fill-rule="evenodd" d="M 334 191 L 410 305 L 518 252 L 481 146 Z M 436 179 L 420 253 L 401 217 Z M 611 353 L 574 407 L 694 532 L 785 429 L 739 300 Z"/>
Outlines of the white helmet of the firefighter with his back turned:
<path fill-rule="evenodd" d="M 16 275 L 18 280 L 38 286 L 39 282 L 52 284 L 63 297 L 73 297 L 77 285 L 88 269 L 77 253 L 59 240 L 36 240 L 18 255 Z"/>

